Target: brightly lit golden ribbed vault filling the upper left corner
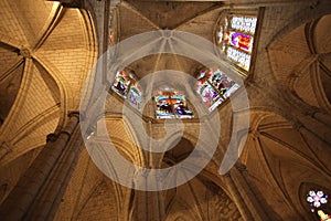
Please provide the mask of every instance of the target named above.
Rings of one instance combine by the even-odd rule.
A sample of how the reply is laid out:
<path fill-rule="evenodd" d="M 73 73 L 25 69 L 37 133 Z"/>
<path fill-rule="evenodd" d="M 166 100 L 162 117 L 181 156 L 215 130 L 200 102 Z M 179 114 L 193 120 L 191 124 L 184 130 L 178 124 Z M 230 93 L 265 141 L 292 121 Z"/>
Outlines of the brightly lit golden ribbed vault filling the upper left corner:
<path fill-rule="evenodd" d="M 43 0 L 0 2 L 0 146 L 3 166 L 45 144 L 77 109 L 96 56 L 86 12 Z"/>

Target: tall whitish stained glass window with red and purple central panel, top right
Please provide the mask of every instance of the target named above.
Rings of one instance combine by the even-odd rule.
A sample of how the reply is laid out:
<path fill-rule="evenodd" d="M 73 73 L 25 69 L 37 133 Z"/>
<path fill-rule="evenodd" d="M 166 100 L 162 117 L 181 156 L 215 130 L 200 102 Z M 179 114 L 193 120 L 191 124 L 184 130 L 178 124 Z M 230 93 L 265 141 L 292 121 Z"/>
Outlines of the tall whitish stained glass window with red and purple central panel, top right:
<path fill-rule="evenodd" d="M 256 31 L 256 15 L 227 14 L 218 23 L 217 43 L 226 56 L 248 72 Z"/>

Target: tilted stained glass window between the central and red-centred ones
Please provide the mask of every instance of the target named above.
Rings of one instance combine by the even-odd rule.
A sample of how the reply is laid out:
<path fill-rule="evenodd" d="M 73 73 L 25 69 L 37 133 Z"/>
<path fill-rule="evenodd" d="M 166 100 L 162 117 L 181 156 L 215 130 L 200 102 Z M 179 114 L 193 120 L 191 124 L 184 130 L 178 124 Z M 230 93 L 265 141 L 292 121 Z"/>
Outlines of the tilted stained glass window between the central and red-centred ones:
<path fill-rule="evenodd" d="M 239 85 L 218 69 L 201 71 L 196 81 L 196 92 L 210 112 L 238 88 Z"/>

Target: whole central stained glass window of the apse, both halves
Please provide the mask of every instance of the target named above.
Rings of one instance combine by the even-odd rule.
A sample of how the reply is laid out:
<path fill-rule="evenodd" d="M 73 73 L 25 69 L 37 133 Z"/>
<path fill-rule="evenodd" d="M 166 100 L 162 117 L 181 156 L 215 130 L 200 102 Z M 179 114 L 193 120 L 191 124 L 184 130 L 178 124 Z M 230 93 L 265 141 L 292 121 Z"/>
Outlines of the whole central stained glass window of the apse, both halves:
<path fill-rule="evenodd" d="M 156 115 L 159 119 L 166 118 L 193 118 L 185 96 L 177 91 L 159 91 L 154 96 Z"/>

